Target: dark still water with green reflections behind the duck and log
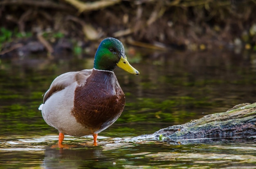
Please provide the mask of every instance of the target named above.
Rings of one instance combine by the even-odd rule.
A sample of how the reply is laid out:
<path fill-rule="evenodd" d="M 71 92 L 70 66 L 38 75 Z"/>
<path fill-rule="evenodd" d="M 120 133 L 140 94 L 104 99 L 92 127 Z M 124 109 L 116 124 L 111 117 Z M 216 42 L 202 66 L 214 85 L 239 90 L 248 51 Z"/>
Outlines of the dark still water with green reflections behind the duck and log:
<path fill-rule="evenodd" d="M 92 68 L 93 65 L 93 58 L 49 61 L 34 59 L 35 57 L 23 61 L 1 61 L 2 134 L 56 132 L 45 124 L 38 111 L 43 100 L 42 94 L 56 76 L 67 71 Z M 254 102 L 254 69 L 238 64 L 244 62 L 243 60 L 232 62 L 229 57 L 225 57 L 161 55 L 157 58 L 161 60 L 161 64 L 157 65 L 151 59 L 144 58 L 143 63 L 134 65 L 141 71 L 141 75 L 137 77 L 117 68 L 115 73 L 126 93 L 126 107 L 111 131 L 106 134 L 114 133 L 116 136 L 129 132 L 154 132 L 153 129 L 186 123 L 213 112 L 226 111 L 242 102 Z M 150 124 L 154 124 L 154 127 L 148 127 Z M 145 127 L 139 133 L 136 126 L 146 126 L 149 128 L 148 132 Z"/>

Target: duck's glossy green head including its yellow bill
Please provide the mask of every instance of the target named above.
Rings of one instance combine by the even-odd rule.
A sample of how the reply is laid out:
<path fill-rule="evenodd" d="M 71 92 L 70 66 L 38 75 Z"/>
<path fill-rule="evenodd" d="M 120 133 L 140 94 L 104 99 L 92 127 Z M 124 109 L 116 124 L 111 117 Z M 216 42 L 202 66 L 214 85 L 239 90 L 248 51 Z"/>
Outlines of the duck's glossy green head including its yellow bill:
<path fill-rule="evenodd" d="M 139 75 L 139 71 L 127 61 L 122 42 L 113 37 L 108 37 L 99 44 L 94 58 L 94 68 L 113 71 L 117 66 L 129 73 Z"/>

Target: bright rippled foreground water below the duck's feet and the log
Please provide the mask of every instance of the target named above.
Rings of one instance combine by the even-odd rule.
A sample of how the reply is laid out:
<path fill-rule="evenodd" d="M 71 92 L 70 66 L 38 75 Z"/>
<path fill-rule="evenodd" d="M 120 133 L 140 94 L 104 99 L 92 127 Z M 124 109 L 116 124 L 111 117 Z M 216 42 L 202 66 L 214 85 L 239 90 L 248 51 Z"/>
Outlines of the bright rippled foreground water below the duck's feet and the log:
<path fill-rule="evenodd" d="M 57 136 L 12 136 L 1 142 L 1 168 L 255 168 L 255 142 L 215 140 L 211 144 L 171 145 L 168 143 L 126 143 L 99 138 L 99 146 L 89 138 L 67 137 L 72 149 L 56 149 Z"/>

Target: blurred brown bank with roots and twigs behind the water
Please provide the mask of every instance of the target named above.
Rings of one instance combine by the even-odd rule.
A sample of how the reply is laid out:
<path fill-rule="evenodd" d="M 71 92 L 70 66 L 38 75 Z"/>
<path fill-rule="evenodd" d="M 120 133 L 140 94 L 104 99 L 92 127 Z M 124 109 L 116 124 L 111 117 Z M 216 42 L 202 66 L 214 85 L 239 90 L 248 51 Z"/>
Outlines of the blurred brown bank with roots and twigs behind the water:
<path fill-rule="evenodd" d="M 255 8 L 255 0 L 1 0 L 0 55 L 94 54 L 105 37 L 157 50 L 255 51 Z"/>

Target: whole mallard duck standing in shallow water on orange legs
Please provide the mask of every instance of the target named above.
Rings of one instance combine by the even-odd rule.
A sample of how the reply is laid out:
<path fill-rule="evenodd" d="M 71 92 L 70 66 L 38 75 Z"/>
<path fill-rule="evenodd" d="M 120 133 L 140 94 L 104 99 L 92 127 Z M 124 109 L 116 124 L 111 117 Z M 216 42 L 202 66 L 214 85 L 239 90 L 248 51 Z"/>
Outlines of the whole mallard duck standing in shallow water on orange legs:
<path fill-rule="evenodd" d="M 112 37 L 104 39 L 95 53 L 90 70 L 64 73 L 52 82 L 43 95 L 45 122 L 58 129 L 58 146 L 64 135 L 97 136 L 112 125 L 124 110 L 125 96 L 113 70 L 118 66 L 139 75 L 127 61 L 123 44 Z"/>

